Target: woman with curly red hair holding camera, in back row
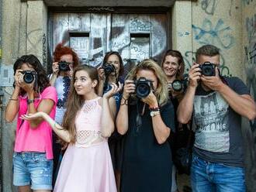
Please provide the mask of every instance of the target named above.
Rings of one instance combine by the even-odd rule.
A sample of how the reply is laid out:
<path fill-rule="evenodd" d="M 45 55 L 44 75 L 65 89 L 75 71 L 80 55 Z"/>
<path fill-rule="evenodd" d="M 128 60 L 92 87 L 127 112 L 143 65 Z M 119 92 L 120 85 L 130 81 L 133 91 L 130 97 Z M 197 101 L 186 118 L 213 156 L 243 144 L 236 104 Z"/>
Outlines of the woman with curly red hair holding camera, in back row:
<path fill-rule="evenodd" d="M 70 47 L 57 44 L 54 50 L 53 73 L 50 74 L 50 84 L 57 90 L 57 109 L 55 120 L 62 124 L 63 116 L 66 111 L 67 96 L 71 86 L 71 77 L 74 67 L 78 67 L 79 60 L 77 53 Z M 57 135 L 53 132 L 54 143 L 54 177 L 53 184 L 57 178 L 57 170 L 60 165 L 64 150 L 61 151 L 61 144 L 58 142 Z"/>

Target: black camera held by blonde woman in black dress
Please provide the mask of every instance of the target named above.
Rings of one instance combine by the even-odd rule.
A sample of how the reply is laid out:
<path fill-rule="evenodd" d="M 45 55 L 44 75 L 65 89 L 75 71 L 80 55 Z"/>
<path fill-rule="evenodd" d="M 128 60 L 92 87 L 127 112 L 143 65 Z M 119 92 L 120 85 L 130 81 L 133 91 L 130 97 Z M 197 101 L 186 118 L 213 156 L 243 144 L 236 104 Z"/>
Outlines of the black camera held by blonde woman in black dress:
<path fill-rule="evenodd" d="M 153 89 L 152 81 L 147 80 L 145 77 L 140 77 L 137 81 L 134 81 L 134 84 L 137 98 L 147 98 L 147 95 Z"/>

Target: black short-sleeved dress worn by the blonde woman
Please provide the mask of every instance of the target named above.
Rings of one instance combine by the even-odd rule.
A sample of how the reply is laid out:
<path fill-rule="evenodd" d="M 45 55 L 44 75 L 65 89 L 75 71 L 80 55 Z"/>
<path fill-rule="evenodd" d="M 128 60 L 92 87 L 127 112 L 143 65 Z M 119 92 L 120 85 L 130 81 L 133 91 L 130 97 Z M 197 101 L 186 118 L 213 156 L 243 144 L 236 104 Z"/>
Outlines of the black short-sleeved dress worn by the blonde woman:
<path fill-rule="evenodd" d="M 168 142 L 158 144 L 154 135 L 152 118 L 146 106 L 137 127 L 137 109 L 144 103 L 129 105 L 129 129 L 126 133 L 123 155 L 121 190 L 123 192 L 169 192 L 171 191 L 171 150 Z M 171 102 L 160 109 L 161 118 L 173 129 L 174 110 Z"/>

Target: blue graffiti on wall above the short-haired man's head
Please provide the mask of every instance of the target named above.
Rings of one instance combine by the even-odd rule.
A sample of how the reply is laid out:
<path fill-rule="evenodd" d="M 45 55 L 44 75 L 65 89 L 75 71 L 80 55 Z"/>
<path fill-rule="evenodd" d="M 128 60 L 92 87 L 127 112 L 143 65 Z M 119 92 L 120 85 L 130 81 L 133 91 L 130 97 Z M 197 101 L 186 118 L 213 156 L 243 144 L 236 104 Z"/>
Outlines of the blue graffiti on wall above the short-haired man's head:
<path fill-rule="evenodd" d="M 230 49 L 234 46 L 235 39 L 231 33 L 230 26 L 223 26 L 223 19 L 219 19 L 216 26 L 209 19 L 204 19 L 202 27 L 192 25 L 195 40 L 200 44 L 212 44 L 221 46 L 224 49 Z"/>

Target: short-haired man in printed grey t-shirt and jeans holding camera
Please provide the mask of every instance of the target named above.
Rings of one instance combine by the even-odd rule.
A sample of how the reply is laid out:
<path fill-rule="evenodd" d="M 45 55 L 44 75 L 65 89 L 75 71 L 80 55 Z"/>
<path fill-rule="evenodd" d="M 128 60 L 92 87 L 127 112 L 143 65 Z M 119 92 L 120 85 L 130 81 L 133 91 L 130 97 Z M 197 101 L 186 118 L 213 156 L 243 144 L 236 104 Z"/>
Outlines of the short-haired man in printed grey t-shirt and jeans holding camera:
<path fill-rule="evenodd" d="M 193 191 L 245 191 L 241 117 L 256 117 L 256 105 L 238 77 L 220 74 L 220 50 L 205 45 L 195 53 L 189 87 L 178 105 L 178 120 L 192 118 L 195 131 Z"/>

